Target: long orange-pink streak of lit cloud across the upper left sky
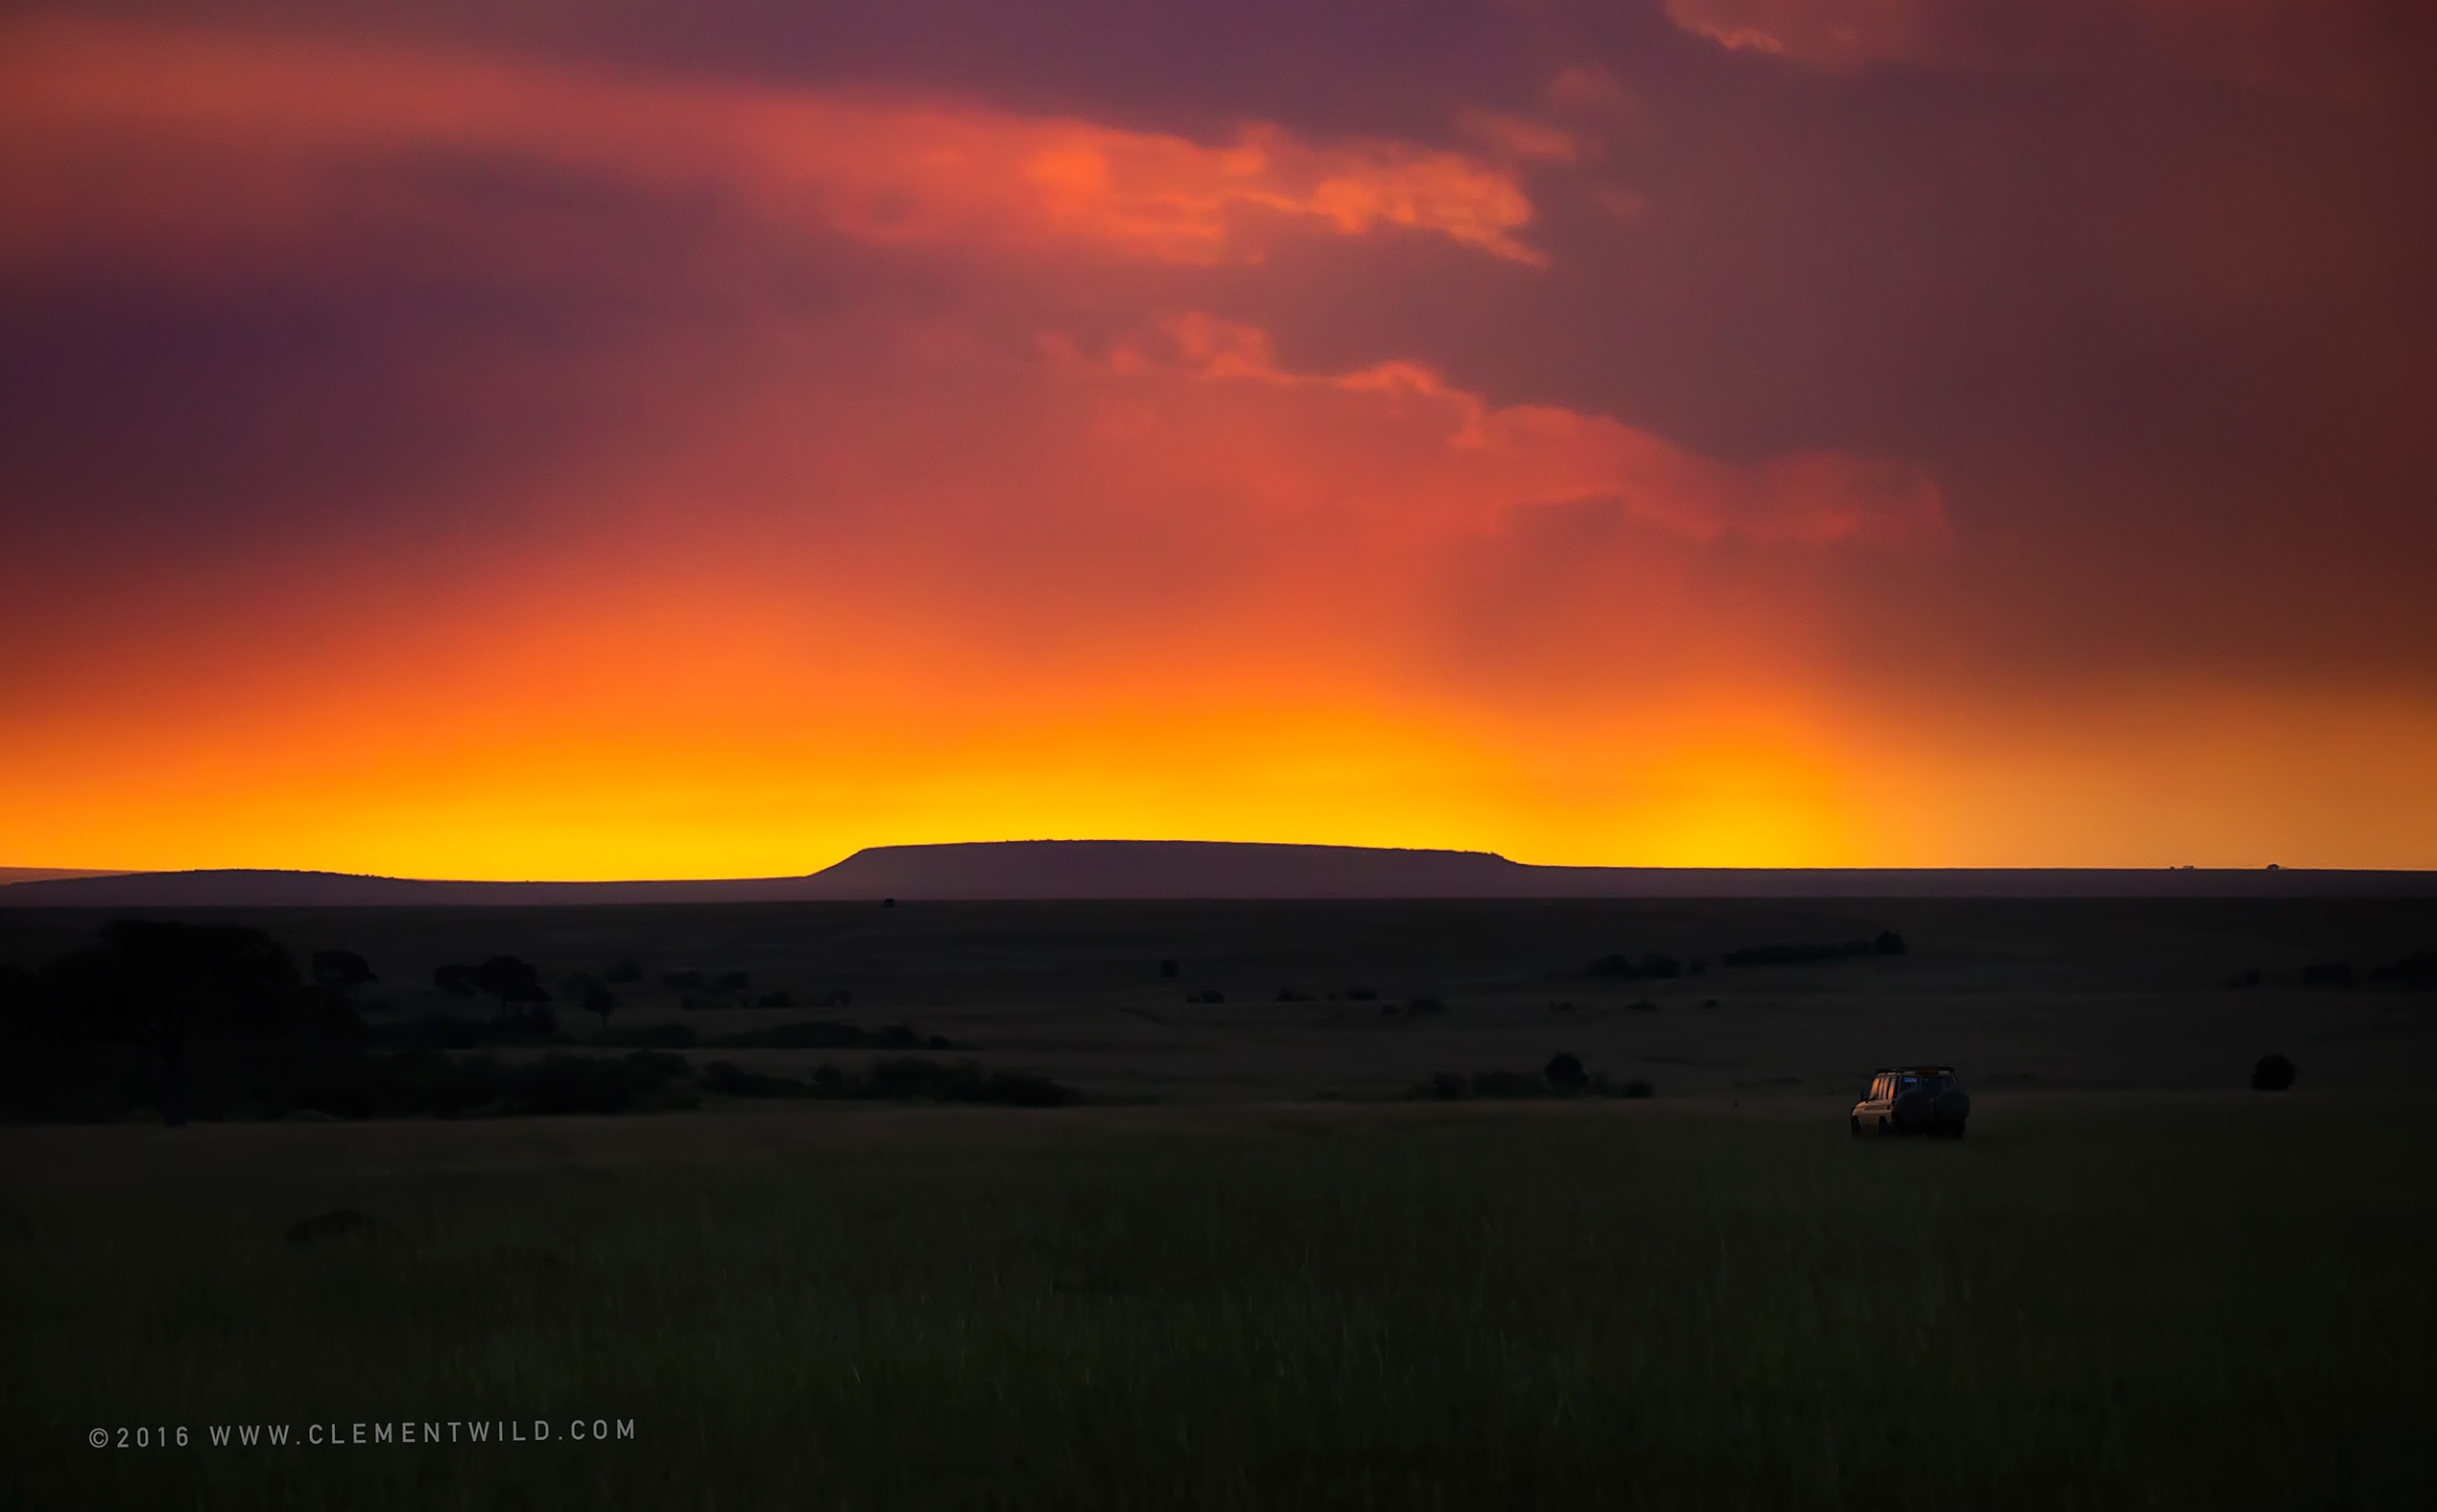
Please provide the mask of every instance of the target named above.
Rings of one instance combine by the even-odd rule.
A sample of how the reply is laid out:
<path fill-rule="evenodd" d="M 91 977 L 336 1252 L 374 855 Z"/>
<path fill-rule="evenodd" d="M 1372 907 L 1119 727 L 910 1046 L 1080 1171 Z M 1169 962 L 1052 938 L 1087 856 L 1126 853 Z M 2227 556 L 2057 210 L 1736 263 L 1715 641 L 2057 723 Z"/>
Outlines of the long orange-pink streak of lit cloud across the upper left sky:
<path fill-rule="evenodd" d="M 1201 144 L 970 100 L 73 22 L 5 29 L 0 134 L 0 246 L 19 256 L 292 237 L 366 193 L 368 168 L 470 156 L 712 193 L 780 229 L 877 244 L 1228 263 L 1282 237 L 1406 229 L 1543 261 L 1506 171 L 1409 141 L 1250 122 Z"/>

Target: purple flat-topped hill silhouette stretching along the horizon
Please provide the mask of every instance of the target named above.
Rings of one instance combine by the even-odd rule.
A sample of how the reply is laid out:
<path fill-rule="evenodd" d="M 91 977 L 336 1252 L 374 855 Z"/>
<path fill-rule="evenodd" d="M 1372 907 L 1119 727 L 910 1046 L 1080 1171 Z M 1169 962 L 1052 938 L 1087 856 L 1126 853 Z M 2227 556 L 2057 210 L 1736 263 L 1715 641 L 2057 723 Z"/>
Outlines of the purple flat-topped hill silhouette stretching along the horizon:
<path fill-rule="evenodd" d="M 5 878 L 7 873 L 0 873 Z M 1489 851 L 1165 839 L 872 846 L 797 878 L 446 883 L 151 871 L 0 885 L 0 907 L 395 907 L 1053 897 L 2437 897 L 2427 871 L 1523 866 Z"/>

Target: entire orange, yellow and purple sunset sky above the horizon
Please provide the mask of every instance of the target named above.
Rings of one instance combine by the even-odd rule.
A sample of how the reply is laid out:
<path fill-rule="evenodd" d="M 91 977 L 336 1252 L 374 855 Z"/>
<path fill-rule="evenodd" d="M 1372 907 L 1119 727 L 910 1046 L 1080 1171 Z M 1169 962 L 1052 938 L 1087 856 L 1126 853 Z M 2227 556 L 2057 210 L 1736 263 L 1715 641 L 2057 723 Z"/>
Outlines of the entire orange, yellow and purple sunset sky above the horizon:
<path fill-rule="evenodd" d="M 2427 0 L 0 15 L 0 863 L 2437 866 Z"/>

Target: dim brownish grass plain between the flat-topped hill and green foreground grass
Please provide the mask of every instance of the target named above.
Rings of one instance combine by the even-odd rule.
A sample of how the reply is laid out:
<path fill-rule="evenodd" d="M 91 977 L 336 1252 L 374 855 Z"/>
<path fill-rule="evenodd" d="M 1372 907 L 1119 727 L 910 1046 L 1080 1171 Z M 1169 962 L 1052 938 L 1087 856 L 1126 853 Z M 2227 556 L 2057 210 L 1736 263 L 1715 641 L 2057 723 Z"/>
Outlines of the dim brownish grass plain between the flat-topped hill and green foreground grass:
<path fill-rule="evenodd" d="M 85 944 L 105 915 L 0 910 L 0 961 Z M 295 951 L 353 949 L 378 1024 L 485 1012 L 431 988 L 446 961 L 514 954 L 558 983 L 636 958 L 614 1024 L 704 1034 L 790 1017 L 909 1022 L 992 1071 L 1102 1100 L 1394 1097 L 1440 1071 L 1538 1071 L 1557 1051 L 1662 1097 L 1845 1097 L 1891 1061 L 1952 1061 L 1974 1090 L 2237 1090 L 2269 1051 L 2305 1088 L 2437 1088 L 2430 993 L 2374 966 L 2437 949 L 2430 900 L 1540 900 L 858 902 L 685 907 L 222 910 Z M 1896 929 L 1906 956 L 1725 968 L 1728 951 Z M 1708 961 L 1589 978 L 1623 951 Z M 1162 978 L 1160 961 L 1177 975 Z M 2310 963 L 2357 988 L 2310 988 Z M 668 971 L 743 971 L 851 1007 L 682 1012 Z M 2262 985 L 2230 988 L 2259 971 Z M 1377 993 L 1355 1000 L 1353 988 Z M 1209 995 L 1218 1002 L 1209 1002 Z M 1292 993 L 1292 997 L 1287 997 Z M 1199 1002 L 1197 1002 L 1199 997 Z M 1433 1015 L 1382 1007 L 1431 997 Z M 561 1010 L 573 1036 L 597 1029 Z M 802 1075 L 833 1051 L 719 1051 Z M 697 1054 L 697 1061 L 714 1058 Z"/>

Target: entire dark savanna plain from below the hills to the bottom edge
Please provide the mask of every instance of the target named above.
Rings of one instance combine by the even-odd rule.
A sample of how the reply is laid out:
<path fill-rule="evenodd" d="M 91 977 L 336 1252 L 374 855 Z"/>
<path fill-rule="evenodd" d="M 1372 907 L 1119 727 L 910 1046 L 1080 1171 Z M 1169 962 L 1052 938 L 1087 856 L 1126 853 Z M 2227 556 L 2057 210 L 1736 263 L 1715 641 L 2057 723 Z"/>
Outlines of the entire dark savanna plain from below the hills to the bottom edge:
<path fill-rule="evenodd" d="M 2437 1492 L 2427 900 L 156 917 L 361 954 L 375 1039 L 492 1015 L 434 973 L 514 956 L 551 1034 L 444 1054 L 680 1071 L 619 1114 L 0 1132 L 12 1505 Z M 0 961 L 107 919 L 0 910 Z M 2298 1083 L 2249 1090 L 2271 1051 Z M 816 1095 L 907 1056 L 1080 1100 Z M 1969 1139 L 1852 1139 L 1889 1061 L 1954 1063 Z"/>

